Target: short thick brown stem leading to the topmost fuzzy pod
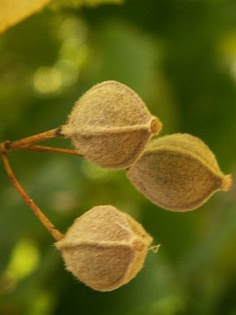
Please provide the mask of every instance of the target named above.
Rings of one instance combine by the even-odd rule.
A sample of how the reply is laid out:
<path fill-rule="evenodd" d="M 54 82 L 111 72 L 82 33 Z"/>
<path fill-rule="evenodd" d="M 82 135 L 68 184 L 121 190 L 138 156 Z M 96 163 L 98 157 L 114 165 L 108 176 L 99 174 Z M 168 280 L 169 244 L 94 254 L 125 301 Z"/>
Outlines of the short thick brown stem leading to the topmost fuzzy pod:
<path fill-rule="evenodd" d="M 6 141 L 5 142 L 6 150 L 14 149 L 20 146 L 23 147 L 24 145 L 26 146 L 33 145 L 33 143 L 38 143 L 40 141 L 49 140 L 53 138 L 61 138 L 63 137 L 63 135 L 61 134 L 60 129 L 61 128 L 58 127 L 55 129 L 44 131 L 41 134 L 35 134 L 33 136 L 29 136 L 12 142 Z"/>

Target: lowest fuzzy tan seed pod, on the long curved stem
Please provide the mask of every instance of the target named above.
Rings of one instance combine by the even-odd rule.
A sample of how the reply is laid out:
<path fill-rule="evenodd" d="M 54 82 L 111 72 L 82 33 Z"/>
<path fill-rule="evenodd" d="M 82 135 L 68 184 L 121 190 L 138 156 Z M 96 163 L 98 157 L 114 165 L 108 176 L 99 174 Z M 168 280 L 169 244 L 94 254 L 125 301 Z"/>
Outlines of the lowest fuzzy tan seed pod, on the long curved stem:
<path fill-rule="evenodd" d="M 112 291 L 140 271 L 152 237 L 128 214 L 97 206 L 56 243 L 67 270 L 97 291 Z"/>

